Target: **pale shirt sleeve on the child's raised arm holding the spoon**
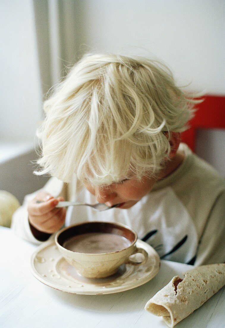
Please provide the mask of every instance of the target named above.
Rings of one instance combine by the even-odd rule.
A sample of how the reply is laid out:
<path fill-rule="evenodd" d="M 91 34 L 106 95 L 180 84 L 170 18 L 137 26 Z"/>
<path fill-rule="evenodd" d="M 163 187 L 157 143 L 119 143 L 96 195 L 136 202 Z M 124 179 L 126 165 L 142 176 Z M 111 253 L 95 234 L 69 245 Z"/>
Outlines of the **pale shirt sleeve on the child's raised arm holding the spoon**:
<path fill-rule="evenodd" d="M 28 221 L 27 205 L 29 201 L 32 200 L 40 191 L 46 191 L 54 197 L 63 196 L 66 199 L 65 184 L 57 178 L 52 177 L 48 180 L 42 189 L 25 196 L 23 205 L 20 206 L 13 214 L 11 224 L 11 228 L 14 230 L 17 236 L 37 245 L 41 244 L 42 242 L 36 239 L 31 232 Z"/>

